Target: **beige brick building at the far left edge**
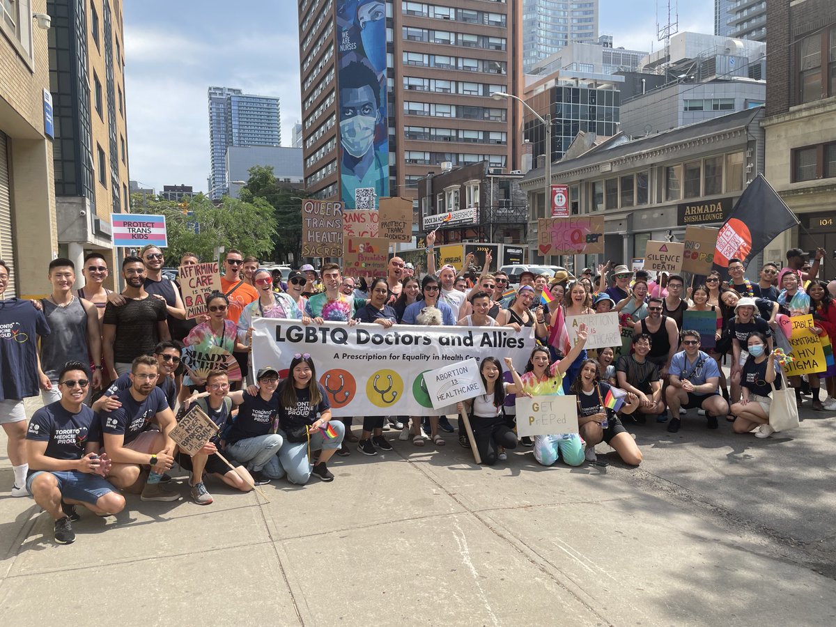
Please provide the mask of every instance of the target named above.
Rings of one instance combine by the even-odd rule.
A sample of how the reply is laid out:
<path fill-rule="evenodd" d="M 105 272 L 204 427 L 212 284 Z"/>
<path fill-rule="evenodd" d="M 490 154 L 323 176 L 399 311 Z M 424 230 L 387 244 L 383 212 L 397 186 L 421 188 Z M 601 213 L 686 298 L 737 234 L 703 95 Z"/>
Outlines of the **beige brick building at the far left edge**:
<path fill-rule="evenodd" d="M 58 253 L 48 29 L 32 15 L 46 4 L 0 3 L 0 258 L 11 268 L 3 298 L 49 293 L 46 268 Z"/>

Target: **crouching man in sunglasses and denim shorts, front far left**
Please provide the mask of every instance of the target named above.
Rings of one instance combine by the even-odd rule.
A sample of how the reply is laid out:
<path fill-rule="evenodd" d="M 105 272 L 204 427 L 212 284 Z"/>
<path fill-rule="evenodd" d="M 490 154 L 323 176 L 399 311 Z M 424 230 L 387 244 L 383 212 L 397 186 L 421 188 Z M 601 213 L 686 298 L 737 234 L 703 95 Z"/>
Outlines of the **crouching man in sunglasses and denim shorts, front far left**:
<path fill-rule="evenodd" d="M 55 542 L 74 542 L 71 523 L 79 520 L 76 505 L 99 516 L 122 511 L 125 497 L 104 479 L 110 468 L 98 456 L 99 421 L 84 405 L 90 385 L 87 366 L 68 361 L 58 377 L 60 400 L 35 412 L 26 434 L 29 477 L 26 488 L 35 502 L 55 519 Z"/>

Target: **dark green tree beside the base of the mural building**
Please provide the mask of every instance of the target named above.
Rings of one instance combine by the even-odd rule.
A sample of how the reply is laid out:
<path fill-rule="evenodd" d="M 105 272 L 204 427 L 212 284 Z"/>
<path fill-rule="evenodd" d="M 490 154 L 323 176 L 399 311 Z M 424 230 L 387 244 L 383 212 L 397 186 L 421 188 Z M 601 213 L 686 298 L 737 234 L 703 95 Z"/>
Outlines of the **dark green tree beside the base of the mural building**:
<path fill-rule="evenodd" d="M 278 225 L 273 242 L 272 257 L 283 260 L 293 257 L 293 268 L 298 268 L 302 254 L 302 201 L 303 191 L 284 186 L 273 174 L 273 166 L 253 166 L 249 169 L 247 185 L 241 188 L 242 201 L 259 199 L 273 207 Z"/>

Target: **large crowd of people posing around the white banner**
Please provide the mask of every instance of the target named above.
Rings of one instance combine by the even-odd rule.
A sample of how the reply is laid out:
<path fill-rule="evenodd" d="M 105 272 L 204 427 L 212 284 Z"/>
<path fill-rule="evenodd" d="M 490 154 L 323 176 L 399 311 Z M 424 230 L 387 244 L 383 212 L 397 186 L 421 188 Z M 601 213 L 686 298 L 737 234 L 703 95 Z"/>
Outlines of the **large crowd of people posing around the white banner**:
<path fill-rule="evenodd" d="M 538 343 L 523 372 L 507 355 L 482 359 L 485 394 L 457 407 L 471 416 L 473 442 L 489 466 L 507 461 L 507 451 L 529 447 L 544 466 L 599 463 L 595 447 L 602 442 L 625 464 L 638 466 L 642 453 L 630 431 L 650 421 L 675 433 L 690 409 L 704 416 L 708 429 L 729 421 L 736 434 L 769 437 L 770 393 L 783 385 L 773 350 L 782 339 L 781 316 L 808 311 L 814 333 L 836 337 L 836 282 L 816 278 L 821 250 L 806 267 L 802 251 L 789 251 L 787 265 L 764 264 L 757 283 L 732 259 L 726 280 L 719 273 L 688 282 L 678 274 L 657 278 L 624 265 L 610 270 L 608 263 L 577 277 L 562 269 L 553 276 L 524 272 L 511 288 L 507 274 L 490 271 L 490 253 L 478 276 L 451 265 L 436 271 L 434 236 L 426 238 L 423 276 L 395 256 L 379 278 L 344 276 L 336 263 L 319 272 L 303 265 L 283 277 L 259 268 L 256 257 L 229 250 L 221 290 L 206 298 L 206 314 L 197 319 L 186 319 L 180 286 L 162 275 L 165 256 L 158 247 L 124 258 L 119 293 L 104 287 L 110 269 L 99 253 L 84 258 L 78 290 L 74 263 L 55 259 L 47 298 L 5 298 L 0 310 L 6 340 L 0 343 L 0 424 L 8 436 L 12 495 L 32 496 L 54 518 L 56 542 L 71 543 L 78 506 L 108 516 L 125 507 L 124 493 L 142 501 L 181 500 L 169 474 L 174 466 L 189 473 L 193 502 L 208 505 L 209 477 L 241 492 L 283 478 L 297 485 L 312 475 L 331 482 L 329 461 L 348 456 L 349 444 L 375 456 L 393 449 L 386 431 L 400 430 L 397 439 L 413 446 L 445 446 L 442 432 L 456 431 L 446 415 L 376 415 L 362 417 L 355 432 L 352 418 L 332 417 L 329 392 L 317 378 L 323 364 L 309 354 L 295 354 L 289 364 L 257 364 L 253 372 L 257 318 L 533 333 Z M 179 261 L 199 263 L 192 253 Z M 0 261 L 0 298 L 12 271 Z M 716 313 L 711 348 L 701 345 L 705 335 L 684 324 L 687 311 Z M 563 339 L 573 316 L 610 312 L 618 314 L 621 345 L 585 349 L 583 324 L 573 345 Z M 230 380 L 227 370 L 201 375 L 185 369 L 186 347 L 226 350 L 242 373 L 250 373 L 249 381 L 247 375 Z M 829 370 L 789 378 L 799 406 L 809 396 L 813 410 L 836 410 L 836 371 Z M 43 407 L 28 420 L 23 399 L 38 392 Z M 574 395 L 579 432 L 518 437 L 514 399 L 533 394 Z M 187 455 L 171 431 L 192 405 L 209 416 L 217 434 Z M 470 448 L 462 421 L 458 430 L 459 445 Z"/>

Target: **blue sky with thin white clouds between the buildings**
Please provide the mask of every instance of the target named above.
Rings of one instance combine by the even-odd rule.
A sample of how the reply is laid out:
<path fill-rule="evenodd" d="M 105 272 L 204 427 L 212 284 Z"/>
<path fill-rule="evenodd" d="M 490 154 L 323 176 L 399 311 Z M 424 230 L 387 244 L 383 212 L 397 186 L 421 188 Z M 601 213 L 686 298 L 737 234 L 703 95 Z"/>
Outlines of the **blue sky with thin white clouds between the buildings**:
<path fill-rule="evenodd" d="M 658 50 L 657 3 L 666 23 L 667 0 L 600 0 L 599 33 L 612 34 L 616 47 L 650 51 L 652 43 Z M 206 191 L 210 85 L 278 96 L 282 144 L 290 145 L 302 109 L 295 0 L 134 0 L 123 6 L 132 180 L 158 191 L 181 184 Z M 713 0 L 680 3 L 680 31 L 713 29 Z"/>

